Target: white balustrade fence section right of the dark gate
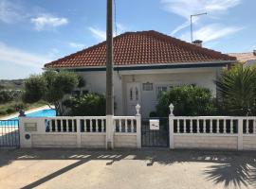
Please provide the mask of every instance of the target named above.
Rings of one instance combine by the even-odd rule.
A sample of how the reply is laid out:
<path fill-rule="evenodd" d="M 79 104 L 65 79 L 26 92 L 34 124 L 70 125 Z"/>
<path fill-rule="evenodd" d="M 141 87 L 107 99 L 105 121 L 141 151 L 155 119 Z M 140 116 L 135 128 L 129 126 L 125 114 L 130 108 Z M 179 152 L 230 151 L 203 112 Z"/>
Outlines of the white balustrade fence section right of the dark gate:
<path fill-rule="evenodd" d="M 174 116 L 170 105 L 171 148 L 256 149 L 256 117 Z"/>

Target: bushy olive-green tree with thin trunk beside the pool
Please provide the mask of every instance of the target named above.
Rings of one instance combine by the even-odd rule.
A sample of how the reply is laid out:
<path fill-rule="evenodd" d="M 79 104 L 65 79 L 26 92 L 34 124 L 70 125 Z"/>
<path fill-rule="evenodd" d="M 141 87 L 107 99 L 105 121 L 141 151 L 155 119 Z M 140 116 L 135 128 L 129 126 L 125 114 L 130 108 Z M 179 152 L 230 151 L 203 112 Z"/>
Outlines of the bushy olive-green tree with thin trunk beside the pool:
<path fill-rule="evenodd" d="M 62 99 L 78 84 L 79 77 L 75 73 L 46 71 L 42 75 L 27 78 L 23 99 L 28 103 L 44 100 L 47 105 L 55 106 L 57 115 L 63 115 Z"/>

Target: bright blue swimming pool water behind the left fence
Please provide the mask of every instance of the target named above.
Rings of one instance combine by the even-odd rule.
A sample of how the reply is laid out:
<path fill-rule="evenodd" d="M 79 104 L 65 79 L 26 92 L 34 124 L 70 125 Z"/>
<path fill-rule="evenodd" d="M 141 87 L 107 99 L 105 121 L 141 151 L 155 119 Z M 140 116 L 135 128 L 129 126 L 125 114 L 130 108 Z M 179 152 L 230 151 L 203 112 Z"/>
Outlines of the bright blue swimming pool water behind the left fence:
<path fill-rule="evenodd" d="M 26 113 L 26 112 L 25 112 Z M 27 117 L 56 117 L 56 111 L 52 109 L 46 109 L 38 112 L 30 112 L 26 113 Z M 17 126 L 18 125 L 18 117 L 14 117 L 9 119 L 8 121 L 0 121 L 1 126 Z"/>

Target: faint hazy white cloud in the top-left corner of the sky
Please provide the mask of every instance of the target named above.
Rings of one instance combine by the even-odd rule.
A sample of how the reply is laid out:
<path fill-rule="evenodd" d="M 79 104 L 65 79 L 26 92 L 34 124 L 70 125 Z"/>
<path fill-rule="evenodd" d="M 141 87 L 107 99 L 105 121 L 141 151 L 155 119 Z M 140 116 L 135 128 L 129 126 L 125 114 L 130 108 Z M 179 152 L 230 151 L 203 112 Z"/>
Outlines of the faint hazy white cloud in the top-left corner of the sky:
<path fill-rule="evenodd" d="M 8 0 L 0 0 L 0 22 L 12 24 L 22 20 L 26 13 L 20 4 Z"/>

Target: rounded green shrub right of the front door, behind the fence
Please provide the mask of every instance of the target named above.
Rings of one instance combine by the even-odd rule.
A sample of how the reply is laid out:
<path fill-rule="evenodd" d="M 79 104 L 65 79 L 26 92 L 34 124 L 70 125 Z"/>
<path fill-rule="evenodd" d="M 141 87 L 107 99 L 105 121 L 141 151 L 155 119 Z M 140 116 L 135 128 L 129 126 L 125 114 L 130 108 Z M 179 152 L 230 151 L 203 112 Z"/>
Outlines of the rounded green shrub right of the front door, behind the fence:
<path fill-rule="evenodd" d="M 170 91 L 161 94 L 156 105 L 157 115 L 168 116 L 171 103 L 174 104 L 174 115 L 176 116 L 212 115 L 216 113 L 210 90 L 198 86 L 174 86 Z"/>

